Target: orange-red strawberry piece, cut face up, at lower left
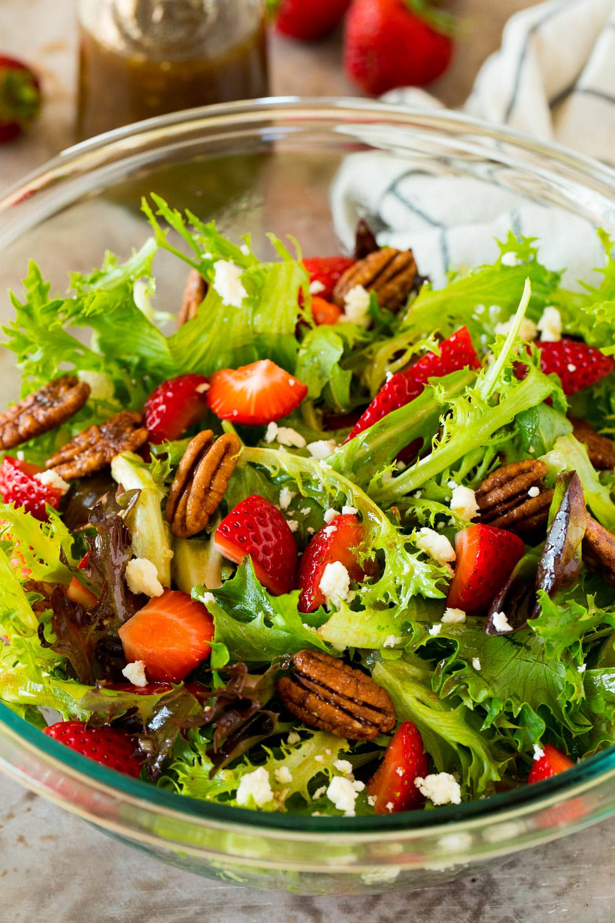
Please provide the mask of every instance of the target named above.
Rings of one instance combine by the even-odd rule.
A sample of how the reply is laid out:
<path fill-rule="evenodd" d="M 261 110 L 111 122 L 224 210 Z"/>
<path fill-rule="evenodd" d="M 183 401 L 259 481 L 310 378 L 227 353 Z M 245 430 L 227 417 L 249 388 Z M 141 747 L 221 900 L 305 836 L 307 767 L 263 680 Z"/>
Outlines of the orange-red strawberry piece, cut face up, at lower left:
<path fill-rule="evenodd" d="M 142 660 L 149 679 L 177 683 L 209 655 L 214 621 L 187 593 L 165 590 L 124 622 L 118 633 L 129 664 Z"/>

